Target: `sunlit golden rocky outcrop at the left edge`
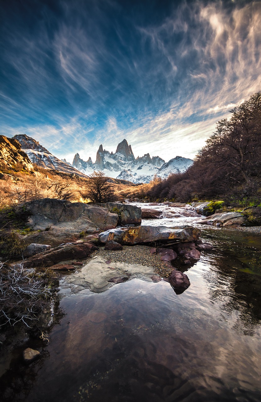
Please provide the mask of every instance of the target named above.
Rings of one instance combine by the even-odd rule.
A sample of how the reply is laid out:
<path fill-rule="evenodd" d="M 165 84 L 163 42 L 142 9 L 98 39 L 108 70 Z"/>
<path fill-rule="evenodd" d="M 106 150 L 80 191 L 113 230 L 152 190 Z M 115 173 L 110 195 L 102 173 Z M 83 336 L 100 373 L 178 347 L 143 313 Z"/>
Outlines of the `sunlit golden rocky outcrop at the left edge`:
<path fill-rule="evenodd" d="M 0 162 L 11 169 L 34 170 L 31 160 L 21 150 L 19 142 L 14 138 L 5 137 L 5 135 L 0 135 Z"/>

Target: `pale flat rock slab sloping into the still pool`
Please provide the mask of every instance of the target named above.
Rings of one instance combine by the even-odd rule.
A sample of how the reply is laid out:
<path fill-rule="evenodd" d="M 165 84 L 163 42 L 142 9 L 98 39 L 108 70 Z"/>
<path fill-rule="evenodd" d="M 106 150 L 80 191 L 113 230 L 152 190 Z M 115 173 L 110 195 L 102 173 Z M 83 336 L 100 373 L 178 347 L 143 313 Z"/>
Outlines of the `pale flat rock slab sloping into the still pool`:
<path fill-rule="evenodd" d="M 104 258 L 95 256 L 82 267 L 80 272 L 66 277 L 65 281 L 71 286 L 74 293 L 84 288 L 100 293 L 113 286 L 114 280 L 109 282 L 112 279 L 127 277 L 128 279 L 140 278 L 151 282 L 152 275 L 155 275 L 153 267 L 113 262 L 108 264 Z"/>

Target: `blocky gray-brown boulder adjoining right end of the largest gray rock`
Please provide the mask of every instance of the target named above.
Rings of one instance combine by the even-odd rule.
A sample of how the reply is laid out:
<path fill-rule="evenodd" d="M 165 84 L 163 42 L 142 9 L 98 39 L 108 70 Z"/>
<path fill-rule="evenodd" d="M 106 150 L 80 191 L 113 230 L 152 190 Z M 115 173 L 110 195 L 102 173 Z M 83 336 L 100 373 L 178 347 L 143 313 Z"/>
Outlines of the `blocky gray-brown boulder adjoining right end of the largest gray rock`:
<path fill-rule="evenodd" d="M 117 213 L 119 216 L 118 225 L 140 225 L 142 222 L 142 211 L 134 205 L 107 202 L 95 204 L 108 209 L 110 212 Z"/>

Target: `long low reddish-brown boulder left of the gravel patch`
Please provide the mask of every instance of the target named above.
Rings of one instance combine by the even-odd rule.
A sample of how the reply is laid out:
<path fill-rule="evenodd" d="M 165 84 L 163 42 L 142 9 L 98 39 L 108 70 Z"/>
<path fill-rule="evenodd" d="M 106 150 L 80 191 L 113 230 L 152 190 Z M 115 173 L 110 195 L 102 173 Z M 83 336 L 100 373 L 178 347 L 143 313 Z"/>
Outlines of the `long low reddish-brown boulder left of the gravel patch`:
<path fill-rule="evenodd" d="M 26 258 L 24 261 L 21 261 L 21 264 L 23 264 L 25 268 L 39 267 L 41 265 L 51 267 L 61 261 L 72 260 L 74 258 L 86 258 L 94 250 L 97 250 L 97 247 L 90 243 L 66 243 L 62 246 L 51 248 L 50 250 Z"/>

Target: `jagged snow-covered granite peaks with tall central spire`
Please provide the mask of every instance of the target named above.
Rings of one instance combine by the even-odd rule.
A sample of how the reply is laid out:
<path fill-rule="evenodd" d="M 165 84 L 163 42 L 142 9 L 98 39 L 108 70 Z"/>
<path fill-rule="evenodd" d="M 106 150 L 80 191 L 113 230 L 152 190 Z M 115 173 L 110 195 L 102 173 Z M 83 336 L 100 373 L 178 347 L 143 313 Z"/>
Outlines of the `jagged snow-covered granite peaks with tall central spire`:
<path fill-rule="evenodd" d="M 127 140 L 123 139 L 118 144 L 115 154 L 103 149 L 101 144 L 96 154 L 95 163 L 92 162 L 91 158 L 84 161 L 79 154 L 76 154 L 72 166 L 85 174 L 90 174 L 93 170 L 102 170 L 106 176 L 137 184 L 149 183 L 155 174 L 166 178 L 170 173 L 185 172 L 192 163 L 193 160 L 181 156 L 176 156 L 176 158 L 165 163 L 159 156 L 152 156 L 151 158 L 149 153 L 135 159 L 131 145 L 128 145 Z"/>

